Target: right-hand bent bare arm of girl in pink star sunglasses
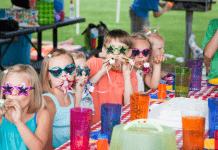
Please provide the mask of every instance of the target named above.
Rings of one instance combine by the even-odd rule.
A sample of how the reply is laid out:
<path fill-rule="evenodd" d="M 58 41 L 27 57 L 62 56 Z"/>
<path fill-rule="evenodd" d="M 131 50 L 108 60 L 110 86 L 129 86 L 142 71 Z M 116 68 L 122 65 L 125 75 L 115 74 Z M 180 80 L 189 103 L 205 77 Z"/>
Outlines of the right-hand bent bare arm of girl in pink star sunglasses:
<path fill-rule="evenodd" d="M 17 127 L 17 130 L 24 141 L 25 145 L 30 150 L 42 150 L 48 140 L 48 132 L 50 126 L 50 116 L 46 109 L 38 112 L 36 122 L 37 128 L 35 134 L 21 120 L 21 107 L 18 101 L 11 100 L 12 119 Z"/>

